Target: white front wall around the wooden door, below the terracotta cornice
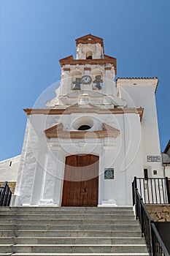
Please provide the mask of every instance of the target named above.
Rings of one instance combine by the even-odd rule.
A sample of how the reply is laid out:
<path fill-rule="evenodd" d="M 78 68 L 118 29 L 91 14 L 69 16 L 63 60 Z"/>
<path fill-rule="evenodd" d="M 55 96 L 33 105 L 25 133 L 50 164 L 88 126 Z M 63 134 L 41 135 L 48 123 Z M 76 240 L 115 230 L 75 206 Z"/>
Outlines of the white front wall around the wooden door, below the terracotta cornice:
<path fill-rule="evenodd" d="M 117 138 L 47 139 L 45 129 L 57 123 L 63 129 L 74 130 L 77 118 L 93 119 L 90 130 L 101 129 L 107 123 L 120 129 Z M 104 115 L 82 113 L 63 116 L 32 115 L 28 118 L 26 136 L 15 197 L 23 205 L 61 206 L 65 158 L 70 154 L 99 156 L 98 206 L 131 205 L 131 182 L 142 176 L 141 124 L 139 115 Z M 115 169 L 114 180 L 104 180 L 104 168 Z"/>

